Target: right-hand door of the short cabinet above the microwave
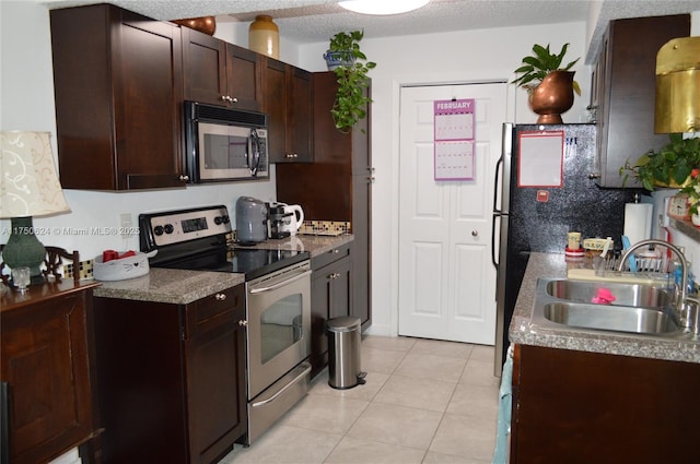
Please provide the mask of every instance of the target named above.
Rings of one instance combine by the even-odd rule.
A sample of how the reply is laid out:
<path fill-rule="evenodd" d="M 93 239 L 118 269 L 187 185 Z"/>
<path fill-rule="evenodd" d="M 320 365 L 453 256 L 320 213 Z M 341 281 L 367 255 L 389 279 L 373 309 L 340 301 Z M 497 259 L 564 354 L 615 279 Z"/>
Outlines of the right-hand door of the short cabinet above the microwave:
<path fill-rule="evenodd" d="M 262 94 L 261 58 L 255 51 L 226 44 L 226 81 L 235 109 L 259 110 Z"/>

